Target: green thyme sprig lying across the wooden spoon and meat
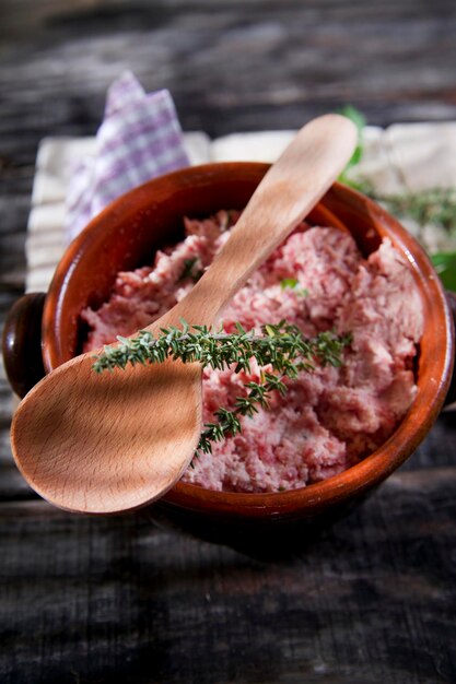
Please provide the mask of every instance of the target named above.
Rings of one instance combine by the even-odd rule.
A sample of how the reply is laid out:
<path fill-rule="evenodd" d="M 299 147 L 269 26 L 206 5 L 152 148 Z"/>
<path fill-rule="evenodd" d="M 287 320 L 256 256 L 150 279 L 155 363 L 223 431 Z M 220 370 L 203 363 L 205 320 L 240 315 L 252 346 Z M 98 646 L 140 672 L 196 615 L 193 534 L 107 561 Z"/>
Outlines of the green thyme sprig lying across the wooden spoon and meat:
<path fill-rule="evenodd" d="M 315 363 L 321 366 L 340 366 L 342 351 L 351 341 L 350 334 L 337 335 L 334 331 L 320 332 L 306 338 L 302 331 L 285 320 L 261 327 L 261 334 L 247 332 L 236 323 L 236 332 L 226 333 L 223 328 L 211 330 L 207 326 L 162 328 L 154 337 L 142 330 L 132 338 L 118 337 L 117 345 L 106 345 L 95 356 L 96 373 L 126 368 L 128 364 L 162 363 L 167 357 L 183 363 L 199 362 L 202 367 L 222 370 L 234 366 L 235 373 L 248 373 L 252 359 L 260 370 L 260 380 L 245 382 L 246 393 L 237 397 L 232 410 L 220 408 L 214 423 L 206 423 L 196 455 L 210 453 L 212 443 L 241 432 L 241 416 L 252 417 L 259 408 L 267 409 L 273 392 L 284 396 L 284 380 L 294 380 L 301 372 L 312 372 Z"/>

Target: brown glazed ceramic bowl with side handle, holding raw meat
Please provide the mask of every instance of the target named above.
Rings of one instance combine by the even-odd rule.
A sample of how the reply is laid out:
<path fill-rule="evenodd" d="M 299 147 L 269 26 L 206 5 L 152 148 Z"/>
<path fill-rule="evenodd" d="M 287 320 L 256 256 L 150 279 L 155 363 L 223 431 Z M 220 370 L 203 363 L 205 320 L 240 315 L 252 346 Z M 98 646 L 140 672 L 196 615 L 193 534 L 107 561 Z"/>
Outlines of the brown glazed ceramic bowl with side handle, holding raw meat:
<path fill-rule="evenodd" d="M 106 300 L 118 271 L 151 263 L 159 247 L 180 237 L 184 215 L 202 217 L 222 208 L 242 209 L 267 168 L 256 163 L 187 168 L 128 192 L 96 216 L 67 249 L 46 298 L 28 295 L 7 323 L 4 355 L 16 391 L 23 393 L 40 374 L 39 353 L 34 356 L 31 344 L 40 344 L 46 372 L 78 354 L 85 334 L 80 312 Z M 262 536 L 271 540 L 276 533 L 282 540 L 294 536 L 302 527 L 320 527 L 349 510 L 404 463 L 434 423 L 452 375 L 453 319 L 424 251 L 393 216 L 339 184 L 309 220 L 344 224 L 364 255 L 389 237 L 407 259 L 422 295 L 425 320 L 413 405 L 382 448 L 325 482 L 277 494 L 220 493 L 178 483 L 148 509 L 155 519 L 235 544 Z M 32 368 L 26 366 L 27 358 L 33 361 Z"/>

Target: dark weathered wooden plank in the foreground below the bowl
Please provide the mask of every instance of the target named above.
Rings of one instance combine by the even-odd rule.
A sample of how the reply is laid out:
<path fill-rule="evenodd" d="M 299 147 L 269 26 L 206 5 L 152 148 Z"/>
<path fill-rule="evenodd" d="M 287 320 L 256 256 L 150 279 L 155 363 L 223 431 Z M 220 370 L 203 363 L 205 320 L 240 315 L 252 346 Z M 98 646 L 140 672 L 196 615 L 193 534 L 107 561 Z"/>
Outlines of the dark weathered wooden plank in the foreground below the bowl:
<path fill-rule="evenodd" d="M 0 505 L 1 681 L 455 681 L 456 475 L 429 475 L 269 563 L 139 514 Z"/>

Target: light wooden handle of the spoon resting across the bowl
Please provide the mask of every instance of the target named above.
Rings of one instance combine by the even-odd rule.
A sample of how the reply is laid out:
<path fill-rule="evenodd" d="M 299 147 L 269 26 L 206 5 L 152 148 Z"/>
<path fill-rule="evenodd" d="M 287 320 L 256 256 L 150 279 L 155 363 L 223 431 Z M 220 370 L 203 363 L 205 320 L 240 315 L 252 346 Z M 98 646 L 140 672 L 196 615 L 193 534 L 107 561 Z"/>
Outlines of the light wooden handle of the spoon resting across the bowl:
<path fill-rule="evenodd" d="M 214 323 L 343 170 L 356 137 L 354 125 L 336 114 L 304 126 L 261 180 L 211 267 L 173 309 L 173 318 Z"/>

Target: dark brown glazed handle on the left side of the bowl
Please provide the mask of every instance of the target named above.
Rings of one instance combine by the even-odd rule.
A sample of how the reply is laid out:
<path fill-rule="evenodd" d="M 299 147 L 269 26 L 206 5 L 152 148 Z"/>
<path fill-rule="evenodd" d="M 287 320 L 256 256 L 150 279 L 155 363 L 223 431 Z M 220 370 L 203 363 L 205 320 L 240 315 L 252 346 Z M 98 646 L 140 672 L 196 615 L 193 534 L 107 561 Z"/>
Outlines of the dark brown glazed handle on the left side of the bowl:
<path fill-rule="evenodd" d="M 4 322 L 4 368 L 11 387 L 21 398 L 46 375 L 42 356 L 45 298 L 43 292 L 24 295 L 13 304 Z"/>

